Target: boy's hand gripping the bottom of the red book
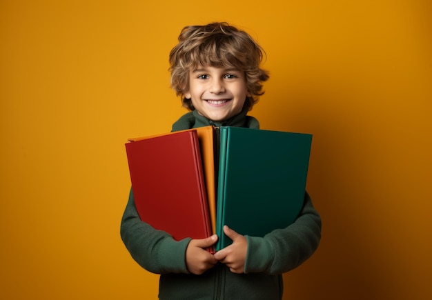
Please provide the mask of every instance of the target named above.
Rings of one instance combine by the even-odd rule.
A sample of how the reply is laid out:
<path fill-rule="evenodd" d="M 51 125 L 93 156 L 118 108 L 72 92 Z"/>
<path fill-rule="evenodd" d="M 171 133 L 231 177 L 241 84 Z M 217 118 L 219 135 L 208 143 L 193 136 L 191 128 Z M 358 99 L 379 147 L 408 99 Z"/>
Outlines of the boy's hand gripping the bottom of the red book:
<path fill-rule="evenodd" d="M 189 242 L 188 248 L 186 248 L 186 267 L 189 272 L 200 275 L 215 266 L 217 259 L 204 249 L 213 246 L 216 241 L 217 235 L 213 234 L 206 239 L 193 239 Z"/>

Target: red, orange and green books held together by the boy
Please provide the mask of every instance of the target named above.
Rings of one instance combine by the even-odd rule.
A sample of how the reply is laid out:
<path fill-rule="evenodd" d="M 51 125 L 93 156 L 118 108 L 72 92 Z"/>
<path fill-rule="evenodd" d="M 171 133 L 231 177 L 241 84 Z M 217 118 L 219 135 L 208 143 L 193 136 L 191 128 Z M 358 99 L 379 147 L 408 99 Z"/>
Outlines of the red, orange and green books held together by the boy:
<path fill-rule="evenodd" d="M 217 234 L 264 237 L 302 210 L 312 135 L 206 126 L 129 139 L 126 154 L 142 221 L 177 241 Z M 210 251 L 213 251 L 210 250 Z"/>

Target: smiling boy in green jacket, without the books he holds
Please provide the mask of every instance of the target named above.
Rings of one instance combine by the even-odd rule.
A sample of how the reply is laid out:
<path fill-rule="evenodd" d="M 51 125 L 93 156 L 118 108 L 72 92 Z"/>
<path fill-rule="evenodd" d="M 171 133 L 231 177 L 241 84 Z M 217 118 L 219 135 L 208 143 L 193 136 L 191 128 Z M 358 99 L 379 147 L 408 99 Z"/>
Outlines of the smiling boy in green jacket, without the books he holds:
<path fill-rule="evenodd" d="M 171 86 L 190 110 L 173 131 L 201 126 L 259 128 L 248 110 L 263 94 L 268 73 L 259 68 L 263 51 L 227 23 L 188 26 L 170 52 Z M 253 151 L 253 149 L 251 149 Z M 307 192 L 291 226 L 265 237 L 224 227 L 233 243 L 215 254 L 205 249 L 217 236 L 175 241 L 139 219 L 132 190 L 121 220 L 121 238 L 132 257 L 161 274 L 159 299 L 282 299 L 282 273 L 300 266 L 321 238 L 320 215 Z"/>

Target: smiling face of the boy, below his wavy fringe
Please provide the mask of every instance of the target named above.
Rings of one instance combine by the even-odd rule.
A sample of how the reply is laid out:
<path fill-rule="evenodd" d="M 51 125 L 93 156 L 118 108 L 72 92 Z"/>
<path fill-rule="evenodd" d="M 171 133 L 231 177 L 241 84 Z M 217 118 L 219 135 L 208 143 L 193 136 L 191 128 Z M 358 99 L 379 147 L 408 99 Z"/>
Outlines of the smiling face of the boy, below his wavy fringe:
<path fill-rule="evenodd" d="M 207 119 L 225 121 L 242 111 L 246 97 L 244 72 L 215 67 L 199 67 L 189 71 L 189 90 L 184 97 Z"/>

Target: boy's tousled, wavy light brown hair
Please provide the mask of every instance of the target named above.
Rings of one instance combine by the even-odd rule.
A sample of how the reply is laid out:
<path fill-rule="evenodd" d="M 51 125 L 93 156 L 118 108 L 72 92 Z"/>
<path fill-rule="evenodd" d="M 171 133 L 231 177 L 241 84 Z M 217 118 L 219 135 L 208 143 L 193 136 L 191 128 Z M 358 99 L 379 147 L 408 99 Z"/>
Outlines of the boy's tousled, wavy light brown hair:
<path fill-rule="evenodd" d="M 194 110 L 192 101 L 184 97 L 189 86 L 189 71 L 199 66 L 226 67 L 242 70 L 252 97 L 244 107 L 251 110 L 264 94 L 262 83 L 269 77 L 259 68 L 264 50 L 246 32 L 228 23 L 209 23 L 204 26 L 186 26 L 181 30 L 179 43 L 170 52 L 171 88 L 188 110 Z"/>

